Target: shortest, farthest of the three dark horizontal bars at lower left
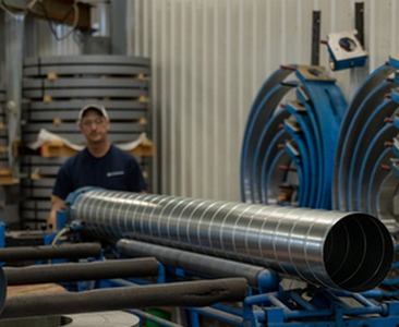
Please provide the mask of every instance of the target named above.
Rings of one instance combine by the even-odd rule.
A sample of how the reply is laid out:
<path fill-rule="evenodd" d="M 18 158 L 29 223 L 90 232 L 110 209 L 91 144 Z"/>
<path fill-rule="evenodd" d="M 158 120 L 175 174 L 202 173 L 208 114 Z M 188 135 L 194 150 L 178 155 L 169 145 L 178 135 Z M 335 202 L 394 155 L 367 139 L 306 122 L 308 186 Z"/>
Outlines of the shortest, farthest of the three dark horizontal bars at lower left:
<path fill-rule="evenodd" d="M 52 258 L 98 257 L 101 245 L 98 243 L 77 243 L 43 246 L 15 246 L 0 250 L 0 262 L 40 261 Z"/>

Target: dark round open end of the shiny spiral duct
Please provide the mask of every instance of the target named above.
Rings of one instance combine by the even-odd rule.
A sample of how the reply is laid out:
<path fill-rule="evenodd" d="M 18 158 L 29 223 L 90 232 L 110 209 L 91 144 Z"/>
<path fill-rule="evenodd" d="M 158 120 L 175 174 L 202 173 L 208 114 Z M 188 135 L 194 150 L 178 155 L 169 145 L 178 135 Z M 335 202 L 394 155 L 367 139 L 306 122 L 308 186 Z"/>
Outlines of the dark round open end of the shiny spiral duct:
<path fill-rule="evenodd" d="M 386 278 L 394 243 L 385 225 L 366 214 L 350 214 L 329 231 L 324 244 L 327 274 L 341 289 L 364 292 Z"/>

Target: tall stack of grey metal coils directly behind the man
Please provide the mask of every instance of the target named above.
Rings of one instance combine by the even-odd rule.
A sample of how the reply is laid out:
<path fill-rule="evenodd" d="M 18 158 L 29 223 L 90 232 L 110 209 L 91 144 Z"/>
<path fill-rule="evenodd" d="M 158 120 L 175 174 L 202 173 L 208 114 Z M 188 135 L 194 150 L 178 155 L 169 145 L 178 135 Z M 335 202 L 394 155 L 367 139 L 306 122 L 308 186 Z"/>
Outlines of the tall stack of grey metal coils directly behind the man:
<path fill-rule="evenodd" d="M 37 141 L 40 130 L 84 145 L 76 120 L 80 109 L 87 104 L 107 108 L 112 143 L 135 141 L 143 132 L 150 137 L 148 59 L 128 56 L 28 58 L 24 61 L 23 76 L 22 142 L 25 146 Z M 39 152 L 26 152 L 23 156 L 22 172 L 26 179 L 21 181 L 25 196 L 22 219 L 25 222 L 45 221 L 58 168 L 66 158 L 40 157 Z M 142 162 L 140 158 L 138 161 Z M 149 160 L 145 162 L 148 165 Z M 143 170 L 150 179 L 149 167 Z"/>

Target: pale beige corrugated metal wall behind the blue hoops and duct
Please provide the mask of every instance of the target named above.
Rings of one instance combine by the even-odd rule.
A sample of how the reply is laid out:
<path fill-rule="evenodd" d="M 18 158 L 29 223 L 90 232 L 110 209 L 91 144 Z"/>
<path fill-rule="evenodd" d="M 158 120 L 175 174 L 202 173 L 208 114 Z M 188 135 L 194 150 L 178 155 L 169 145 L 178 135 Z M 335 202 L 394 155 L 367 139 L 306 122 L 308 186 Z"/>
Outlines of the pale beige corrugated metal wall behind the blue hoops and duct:
<path fill-rule="evenodd" d="M 354 28 L 355 1 L 128 1 L 131 55 L 153 62 L 158 186 L 165 194 L 240 199 L 246 117 L 280 64 L 311 62 L 312 11 L 322 38 Z M 336 72 L 347 98 L 368 72 L 399 52 L 398 0 L 364 1 L 367 66 Z M 321 48 L 327 66 L 327 49 Z"/>

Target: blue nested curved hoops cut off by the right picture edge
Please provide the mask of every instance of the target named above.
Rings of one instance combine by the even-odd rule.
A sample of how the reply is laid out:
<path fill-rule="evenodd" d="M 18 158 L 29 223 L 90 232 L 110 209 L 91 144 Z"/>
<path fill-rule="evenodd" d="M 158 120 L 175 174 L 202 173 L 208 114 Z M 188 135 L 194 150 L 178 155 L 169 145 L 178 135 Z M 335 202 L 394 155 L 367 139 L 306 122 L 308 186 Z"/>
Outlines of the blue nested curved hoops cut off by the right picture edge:
<path fill-rule="evenodd" d="M 399 58 L 367 76 L 342 121 L 335 164 L 334 208 L 360 210 L 399 230 L 396 208 Z"/>

